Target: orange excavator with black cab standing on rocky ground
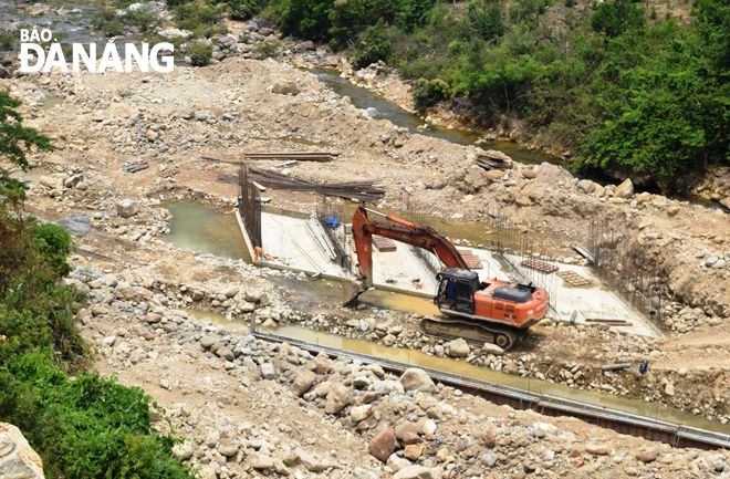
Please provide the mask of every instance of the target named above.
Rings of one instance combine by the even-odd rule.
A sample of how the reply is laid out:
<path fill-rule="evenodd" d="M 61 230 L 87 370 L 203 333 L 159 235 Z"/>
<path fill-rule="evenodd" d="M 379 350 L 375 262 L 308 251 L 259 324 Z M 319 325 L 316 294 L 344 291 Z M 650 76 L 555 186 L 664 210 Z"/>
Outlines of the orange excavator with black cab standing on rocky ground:
<path fill-rule="evenodd" d="M 373 221 L 368 212 L 396 225 Z M 526 330 L 548 313 L 544 289 L 498 279 L 479 281 L 479 275 L 469 269 L 451 241 L 438 231 L 362 206 L 353 218 L 362 278 L 351 277 L 343 282 L 344 303 L 373 287 L 373 235 L 423 248 L 442 263 L 436 275 L 438 287 L 434 298 L 442 316 L 430 315 L 421 321 L 420 327 L 426 334 L 493 343 L 509 350 L 517 340 L 517 331 Z"/>

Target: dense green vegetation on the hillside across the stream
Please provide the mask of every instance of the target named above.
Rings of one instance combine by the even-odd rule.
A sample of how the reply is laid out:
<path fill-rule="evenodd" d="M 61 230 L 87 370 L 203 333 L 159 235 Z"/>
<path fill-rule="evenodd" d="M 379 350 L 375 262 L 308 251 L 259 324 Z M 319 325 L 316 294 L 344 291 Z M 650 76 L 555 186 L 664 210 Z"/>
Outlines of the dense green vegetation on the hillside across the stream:
<path fill-rule="evenodd" d="M 654 20 L 661 3 L 632 0 L 261 7 L 284 34 L 328 41 L 358 67 L 383 60 L 418 80 L 421 108 L 468 97 L 482 125 L 517 119 L 576 152 L 576 168 L 612 163 L 668 183 L 730 159 L 730 0 L 679 1 L 687 19 L 672 17 L 668 2 Z"/>

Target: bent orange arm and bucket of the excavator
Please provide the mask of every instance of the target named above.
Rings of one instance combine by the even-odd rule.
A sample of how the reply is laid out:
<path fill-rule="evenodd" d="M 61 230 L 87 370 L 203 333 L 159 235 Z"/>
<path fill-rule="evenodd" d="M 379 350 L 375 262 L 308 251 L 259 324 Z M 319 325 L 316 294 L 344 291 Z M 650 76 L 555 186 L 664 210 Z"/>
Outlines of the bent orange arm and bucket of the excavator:
<path fill-rule="evenodd" d="M 397 225 L 373 221 L 367 216 L 368 211 L 379 215 Z M 355 211 L 353 218 L 353 237 L 355 239 L 355 251 L 357 252 L 363 279 L 362 281 L 353 278 L 345 280 L 343 284 L 344 303 L 357 298 L 362 292 L 373 285 L 373 235 L 390 238 L 392 240 L 430 251 L 448 268 L 469 269 L 451 241 L 432 228 L 373 211 L 361 206 Z"/>

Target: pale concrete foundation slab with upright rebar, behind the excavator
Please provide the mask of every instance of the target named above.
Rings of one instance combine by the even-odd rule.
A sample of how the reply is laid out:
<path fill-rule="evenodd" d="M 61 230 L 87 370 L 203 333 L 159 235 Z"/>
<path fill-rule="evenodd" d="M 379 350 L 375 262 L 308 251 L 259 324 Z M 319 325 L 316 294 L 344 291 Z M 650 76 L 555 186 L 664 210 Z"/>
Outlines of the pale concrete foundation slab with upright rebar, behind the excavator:
<path fill-rule="evenodd" d="M 345 228 L 345 226 L 341 226 Z M 246 235 L 244 235 L 246 237 Z M 261 239 L 263 250 L 273 257 L 272 261 L 259 261 L 258 264 L 292 271 L 304 271 L 307 275 L 320 275 L 331 280 L 343 280 L 347 272 L 335 261 L 331 261 L 325 252 L 317 247 L 306 227 L 304 215 L 280 215 L 275 212 L 261 214 Z M 247 237 L 247 242 L 248 242 Z M 476 270 L 480 279 L 496 278 L 514 281 L 509 269 L 490 251 L 476 248 L 458 248 L 470 250 L 479 257 L 482 268 Z M 345 244 L 345 251 L 356 261 L 351 241 Z M 374 284 L 378 289 L 410 293 L 424 298 L 432 298 L 436 292 L 436 274 L 439 269 L 438 259 L 426 253 L 431 267 L 416 253 L 415 248 L 397 243 L 397 250 L 390 252 L 373 251 Z M 514 258 L 517 262 L 517 258 Z M 660 331 L 648 319 L 618 293 L 608 290 L 587 267 L 556 264 L 559 272 L 573 271 L 586 279 L 590 284 L 574 287 L 562 278 L 555 277 L 550 293 L 554 311 L 549 317 L 559 321 L 570 321 L 573 311 L 577 312 L 575 324 L 595 326 L 588 320 L 624 320 L 630 326 L 615 326 L 619 331 L 646 336 L 660 335 Z M 556 273 L 553 273 L 556 274 Z M 535 274 L 539 282 L 540 274 Z"/>

